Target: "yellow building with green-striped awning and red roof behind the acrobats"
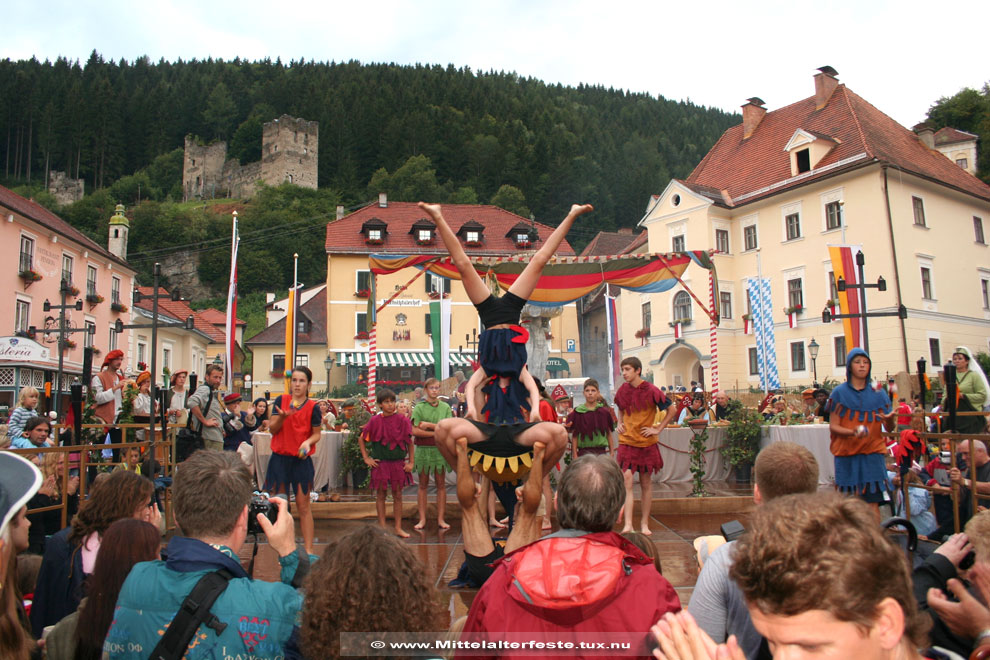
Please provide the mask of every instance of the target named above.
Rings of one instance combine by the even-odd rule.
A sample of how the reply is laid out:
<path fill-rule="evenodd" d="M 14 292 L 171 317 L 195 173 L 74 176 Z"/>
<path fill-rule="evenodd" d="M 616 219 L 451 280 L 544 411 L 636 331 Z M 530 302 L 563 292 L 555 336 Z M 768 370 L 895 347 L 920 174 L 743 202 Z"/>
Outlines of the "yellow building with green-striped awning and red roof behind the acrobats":
<path fill-rule="evenodd" d="M 443 210 L 472 256 L 518 255 L 538 248 L 553 230 L 494 206 L 450 204 Z M 389 202 L 381 195 L 377 204 L 339 216 L 327 225 L 326 240 L 327 349 L 335 362 L 331 388 L 357 382 L 367 373 L 369 255 L 447 255 L 433 224 L 413 203 Z M 565 242 L 558 253 L 573 256 L 574 251 Z M 379 313 L 377 325 L 378 383 L 400 389 L 422 384 L 433 375 L 430 302 L 441 292 L 451 301 L 452 370 L 463 369 L 470 375 L 470 361 L 476 355 L 481 331 L 478 314 L 459 281 L 425 273 L 410 283 L 416 274 L 416 269 L 407 268 L 377 278 L 378 306 L 408 285 Z M 541 334 L 539 340 L 548 348 L 548 365 L 555 370 L 552 373 L 559 369 L 562 375 L 579 375 L 576 305 L 565 305 L 550 314 L 556 315 L 532 319 L 530 332 Z M 544 377 L 546 373 L 534 375 Z"/>

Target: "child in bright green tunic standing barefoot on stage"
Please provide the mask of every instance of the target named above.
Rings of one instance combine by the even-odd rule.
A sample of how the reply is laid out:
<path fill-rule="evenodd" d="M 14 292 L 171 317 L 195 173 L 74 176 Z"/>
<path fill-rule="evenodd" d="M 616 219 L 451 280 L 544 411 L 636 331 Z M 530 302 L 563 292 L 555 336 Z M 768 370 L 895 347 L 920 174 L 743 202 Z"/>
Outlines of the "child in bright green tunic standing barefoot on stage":
<path fill-rule="evenodd" d="M 443 519 L 444 511 L 447 510 L 447 485 L 446 476 L 450 471 L 447 461 L 436 447 L 434 432 L 437 423 L 441 419 L 453 417 L 450 406 L 440 400 L 440 381 L 430 378 L 423 384 L 426 391 L 426 399 L 416 404 L 412 411 L 412 432 L 416 444 L 415 469 L 419 474 L 419 491 L 417 492 L 417 504 L 419 505 L 419 522 L 413 529 L 423 529 L 426 527 L 426 488 L 430 485 L 430 475 L 434 475 L 434 483 L 437 486 L 437 527 L 448 529 L 450 525 Z"/>

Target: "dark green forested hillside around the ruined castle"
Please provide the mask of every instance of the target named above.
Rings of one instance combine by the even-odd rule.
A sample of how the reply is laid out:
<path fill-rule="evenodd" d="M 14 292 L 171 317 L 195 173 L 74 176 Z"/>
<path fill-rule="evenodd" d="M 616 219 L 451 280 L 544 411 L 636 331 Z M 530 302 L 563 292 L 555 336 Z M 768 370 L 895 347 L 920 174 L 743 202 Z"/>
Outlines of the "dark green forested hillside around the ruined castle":
<path fill-rule="evenodd" d="M 314 268 L 334 206 L 379 191 L 497 203 L 550 224 L 572 202 L 591 202 L 596 213 L 572 236 L 580 247 L 599 229 L 638 221 L 649 195 L 686 176 L 739 121 L 690 102 L 453 66 L 113 62 L 94 52 L 85 63 L 0 61 L 0 173 L 49 204 L 40 192 L 47 172 L 85 179 L 87 199 L 60 212 L 101 242 L 112 204 L 127 204 L 131 255 L 145 270 L 166 254 L 151 250 L 229 235 L 227 216 L 177 204 L 183 138 L 227 140 L 231 157 L 252 162 L 262 124 L 282 113 L 320 122 L 321 189 L 271 189 L 242 207 L 248 230 L 295 230 L 285 239 L 273 231 L 274 243 L 256 234 L 242 258 L 282 260 L 304 238 Z M 225 279 L 224 254 L 205 253 L 205 280 Z M 245 292 L 287 283 L 282 269 L 257 282 L 243 272 Z"/>

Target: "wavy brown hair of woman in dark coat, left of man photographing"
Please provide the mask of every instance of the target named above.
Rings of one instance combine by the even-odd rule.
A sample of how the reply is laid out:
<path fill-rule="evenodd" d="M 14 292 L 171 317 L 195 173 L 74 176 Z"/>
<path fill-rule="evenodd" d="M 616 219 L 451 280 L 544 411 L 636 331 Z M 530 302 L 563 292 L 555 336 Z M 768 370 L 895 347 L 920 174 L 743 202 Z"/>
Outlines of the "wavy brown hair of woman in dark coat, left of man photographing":
<path fill-rule="evenodd" d="M 72 518 L 70 547 L 78 547 L 93 532 L 102 535 L 121 518 L 133 518 L 140 509 L 148 506 L 154 492 L 155 485 L 139 474 L 127 470 L 111 473 L 99 488 L 92 491 Z"/>

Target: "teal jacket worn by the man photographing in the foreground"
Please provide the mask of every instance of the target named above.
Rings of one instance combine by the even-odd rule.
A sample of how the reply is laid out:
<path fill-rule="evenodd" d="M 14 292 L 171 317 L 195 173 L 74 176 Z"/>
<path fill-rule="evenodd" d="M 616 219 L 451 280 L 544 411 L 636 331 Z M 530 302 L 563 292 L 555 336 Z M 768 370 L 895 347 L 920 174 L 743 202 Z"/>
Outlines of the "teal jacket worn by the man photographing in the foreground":
<path fill-rule="evenodd" d="M 281 583 L 249 579 L 230 548 L 207 545 L 196 539 L 173 538 L 166 556 L 164 561 L 142 562 L 131 569 L 117 598 L 113 624 L 103 644 L 104 658 L 147 658 L 199 579 L 219 568 L 235 575 L 211 608 L 227 627 L 217 634 L 201 625 L 184 657 L 187 660 L 283 657 L 282 647 L 293 628 L 298 627 L 302 608 L 302 594 L 291 586 L 300 568 L 299 553 L 279 559 Z"/>

